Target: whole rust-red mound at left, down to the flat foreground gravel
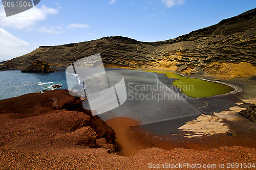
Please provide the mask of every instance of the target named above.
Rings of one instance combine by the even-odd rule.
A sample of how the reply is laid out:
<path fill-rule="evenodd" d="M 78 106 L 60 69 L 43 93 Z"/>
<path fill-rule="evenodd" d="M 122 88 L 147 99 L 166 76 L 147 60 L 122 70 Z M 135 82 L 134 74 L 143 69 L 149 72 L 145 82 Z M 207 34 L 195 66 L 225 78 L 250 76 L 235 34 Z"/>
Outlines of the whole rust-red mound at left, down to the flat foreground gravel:
<path fill-rule="evenodd" d="M 34 143 L 100 148 L 97 139 L 104 138 L 104 147 L 114 152 L 115 133 L 103 120 L 83 109 L 80 99 L 66 89 L 45 93 L 29 93 L 0 101 L 2 120 L 1 143 L 16 134 L 17 145 Z M 37 143 L 38 142 L 38 143 Z"/>

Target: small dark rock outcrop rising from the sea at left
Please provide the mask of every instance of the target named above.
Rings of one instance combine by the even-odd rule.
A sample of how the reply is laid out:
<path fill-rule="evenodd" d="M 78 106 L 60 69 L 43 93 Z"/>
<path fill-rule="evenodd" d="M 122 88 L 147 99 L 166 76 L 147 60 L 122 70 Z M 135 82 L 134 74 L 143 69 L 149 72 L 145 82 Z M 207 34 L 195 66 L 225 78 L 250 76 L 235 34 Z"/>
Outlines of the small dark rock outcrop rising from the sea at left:
<path fill-rule="evenodd" d="M 56 69 L 51 68 L 50 65 L 48 65 L 45 61 L 36 60 L 32 64 L 30 64 L 28 67 L 26 67 L 20 71 L 48 73 L 48 72 L 54 72 L 54 71 L 56 71 Z"/>

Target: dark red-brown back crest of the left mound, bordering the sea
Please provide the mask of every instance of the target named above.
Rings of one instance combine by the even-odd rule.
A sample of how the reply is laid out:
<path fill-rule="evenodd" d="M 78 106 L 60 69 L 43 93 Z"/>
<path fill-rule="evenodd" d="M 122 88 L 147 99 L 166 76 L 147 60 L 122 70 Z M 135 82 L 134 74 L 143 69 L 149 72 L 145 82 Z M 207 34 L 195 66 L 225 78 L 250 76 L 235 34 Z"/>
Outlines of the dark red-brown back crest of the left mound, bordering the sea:
<path fill-rule="evenodd" d="M 18 113 L 33 116 L 61 109 L 82 111 L 82 102 L 71 96 L 65 89 L 56 89 L 45 93 L 29 93 L 0 101 L 0 114 Z"/>

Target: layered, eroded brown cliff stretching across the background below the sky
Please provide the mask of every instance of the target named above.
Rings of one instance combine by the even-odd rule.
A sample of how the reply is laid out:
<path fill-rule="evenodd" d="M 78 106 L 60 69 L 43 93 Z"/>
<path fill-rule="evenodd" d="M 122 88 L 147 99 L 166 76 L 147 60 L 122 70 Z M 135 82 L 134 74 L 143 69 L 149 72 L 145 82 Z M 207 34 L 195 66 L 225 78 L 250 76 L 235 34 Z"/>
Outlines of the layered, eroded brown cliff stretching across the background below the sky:
<path fill-rule="evenodd" d="M 40 46 L 27 55 L 4 62 L 0 70 L 24 68 L 34 60 L 68 66 L 96 53 L 101 54 L 105 67 L 166 69 L 184 74 L 204 71 L 229 77 L 255 76 L 256 12 L 255 9 L 250 10 L 224 19 L 217 25 L 166 41 L 141 42 L 118 36 Z"/>

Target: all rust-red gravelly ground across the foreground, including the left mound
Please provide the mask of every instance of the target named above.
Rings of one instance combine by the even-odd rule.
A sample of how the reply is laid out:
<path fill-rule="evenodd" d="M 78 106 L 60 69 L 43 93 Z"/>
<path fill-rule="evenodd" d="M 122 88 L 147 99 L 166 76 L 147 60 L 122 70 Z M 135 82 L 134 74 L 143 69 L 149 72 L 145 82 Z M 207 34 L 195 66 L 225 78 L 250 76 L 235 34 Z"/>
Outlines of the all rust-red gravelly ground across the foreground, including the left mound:
<path fill-rule="evenodd" d="M 113 153 L 113 130 L 64 89 L 2 100 L 0 121 L 0 169 L 150 169 L 161 164 L 184 165 L 173 169 L 191 169 L 189 165 L 195 164 L 228 169 L 228 163 L 239 163 L 237 169 L 244 169 L 240 163 L 256 163 L 255 149 L 236 146 L 205 151 L 151 148 L 135 156 L 119 156 Z M 118 132 L 136 122 L 126 119 L 126 123 L 108 122 L 119 127 Z M 134 144 L 127 143 L 132 141 L 127 136 L 126 149 Z"/>

